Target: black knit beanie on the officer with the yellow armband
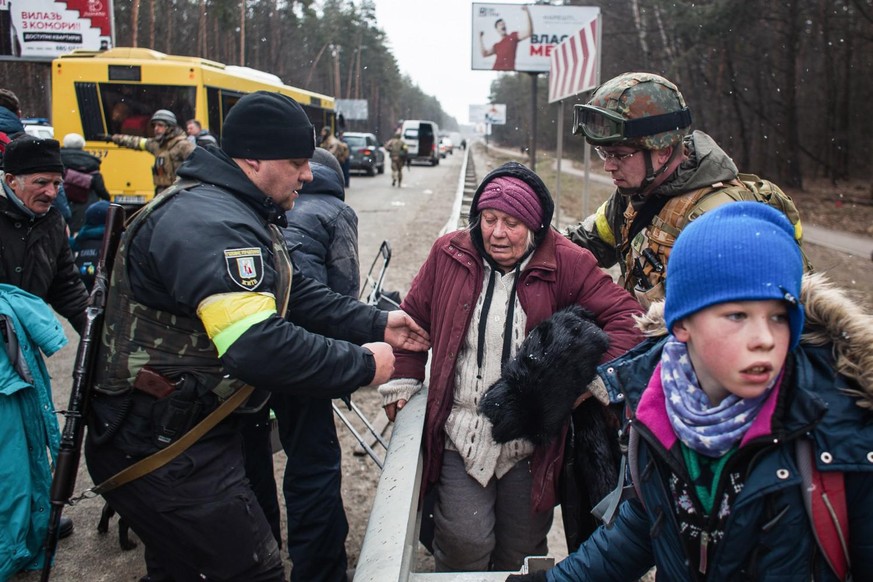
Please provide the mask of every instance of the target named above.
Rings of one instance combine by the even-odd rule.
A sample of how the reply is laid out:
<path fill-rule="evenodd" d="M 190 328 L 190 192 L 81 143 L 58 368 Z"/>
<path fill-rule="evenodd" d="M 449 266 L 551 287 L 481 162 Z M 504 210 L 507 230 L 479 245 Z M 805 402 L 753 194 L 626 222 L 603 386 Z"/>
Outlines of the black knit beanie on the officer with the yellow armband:
<path fill-rule="evenodd" d="M 315 151 L 315 128 L 294 99 L 257 91 L 230 109 L 221 131 L 221 149 L 232 158 L 309 159 Z"/>

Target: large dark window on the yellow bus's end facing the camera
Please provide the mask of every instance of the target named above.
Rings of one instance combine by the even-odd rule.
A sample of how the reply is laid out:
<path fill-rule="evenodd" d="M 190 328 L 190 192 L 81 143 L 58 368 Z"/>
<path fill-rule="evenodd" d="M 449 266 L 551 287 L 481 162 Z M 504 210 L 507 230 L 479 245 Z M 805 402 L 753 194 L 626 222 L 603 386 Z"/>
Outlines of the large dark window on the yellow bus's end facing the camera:
<path fill-rule="evenodd" d="M 108 133 L 152 136 L 149 120 L 158 109 L 169 109 L 180 124 L 194 117 L 195 87 L 100 83 L 100 101 Z"/>

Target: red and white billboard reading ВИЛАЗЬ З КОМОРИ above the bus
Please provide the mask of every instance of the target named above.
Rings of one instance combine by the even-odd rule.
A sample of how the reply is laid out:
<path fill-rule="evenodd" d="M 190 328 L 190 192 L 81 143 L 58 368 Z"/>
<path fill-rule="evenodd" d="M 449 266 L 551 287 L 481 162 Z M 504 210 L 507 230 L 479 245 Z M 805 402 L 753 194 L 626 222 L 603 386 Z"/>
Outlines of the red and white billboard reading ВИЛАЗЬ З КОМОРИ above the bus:
<path fill-rule="evenodd" d="M 112 0 L 0 0 L 0 60 L 112 46 Z"/>

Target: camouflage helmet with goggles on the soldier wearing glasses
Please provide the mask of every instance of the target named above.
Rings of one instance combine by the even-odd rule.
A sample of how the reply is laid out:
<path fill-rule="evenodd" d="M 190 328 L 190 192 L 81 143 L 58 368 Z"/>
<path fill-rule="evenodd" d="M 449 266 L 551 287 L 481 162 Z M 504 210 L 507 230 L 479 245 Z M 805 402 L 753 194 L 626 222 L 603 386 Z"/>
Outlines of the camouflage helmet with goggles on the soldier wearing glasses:
<path fill-rule="evenodd" d="M 679 89 L 659 75 L 623 73 L 573 111 L 573 133 L 592 145 L 659 150 L 682 141 L 691 111 Z"/>

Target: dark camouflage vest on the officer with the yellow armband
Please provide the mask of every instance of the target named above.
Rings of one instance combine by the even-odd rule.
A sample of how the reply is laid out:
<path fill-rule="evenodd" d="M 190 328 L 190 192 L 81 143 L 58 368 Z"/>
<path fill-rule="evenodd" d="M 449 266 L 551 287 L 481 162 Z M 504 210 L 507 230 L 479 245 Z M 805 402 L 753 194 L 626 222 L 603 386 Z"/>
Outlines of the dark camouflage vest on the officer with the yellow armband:
<path fill-rule="evenodd" d="M 198 184 L 177 182 L 134 215 L 127 226 L 118 247 L 109 286 L 98 351 L 98 362 L 102 364 L 94 383 L 94 390 L 98 393 L 121 395 L 130 392 L 134 379 L 146 365 L 171 381 L 183 373 L 192 375 L 197 379 L 199 394 L 211 391 L 219 400 L 226 399 L 244 385 L 240 380 L 227 377 L 218 352 L 199 319 L 167 313 L 138 302 L 133 297 L 127 274 L 130 244 L 139 228 L 168 200 Z M 226 194 L 216 189 L 216 195 Z M 281 231 L 275 225 L 269 226 L 276 257 L 274 268 L 278 275 L 277 309 L 284 315 L 291 290 L 291 260 Z"/>

